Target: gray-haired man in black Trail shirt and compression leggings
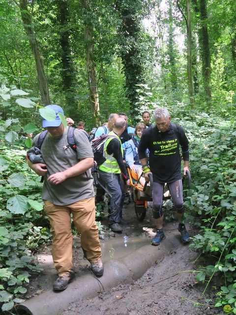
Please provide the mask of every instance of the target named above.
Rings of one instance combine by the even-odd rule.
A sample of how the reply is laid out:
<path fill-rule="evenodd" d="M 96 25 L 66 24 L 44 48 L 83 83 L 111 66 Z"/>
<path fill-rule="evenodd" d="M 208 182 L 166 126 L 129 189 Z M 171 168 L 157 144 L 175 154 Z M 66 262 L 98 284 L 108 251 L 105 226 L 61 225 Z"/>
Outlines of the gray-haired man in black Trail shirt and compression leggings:
<path fill-rule="evenodd" d="M 171 123 L 171 116 L 167 108 L 159 107 L 154 110 L 155 126 L 144 130 L 140 140 L 138 152 L 146 181 L 148 174 L 153 176 L 153 218 L 157 228 L 156 236 L 151 240 L 152 245 L 159 245 L 165 238 L 163 231 L 162 197 L 165 183 L 167 183 L 176 207 L 179 221 L 178 231 L 181 241 L 188 243 L 189 234 L 182 221 L 184 213 L 183 188 L 181 175 L 181 157 L 179 146 L 182 149 L 183 175 L 189 171 L 188 139 L 181 126 Z M 146 157 L 146 149 L 149 150 L 149 165 Z"/>

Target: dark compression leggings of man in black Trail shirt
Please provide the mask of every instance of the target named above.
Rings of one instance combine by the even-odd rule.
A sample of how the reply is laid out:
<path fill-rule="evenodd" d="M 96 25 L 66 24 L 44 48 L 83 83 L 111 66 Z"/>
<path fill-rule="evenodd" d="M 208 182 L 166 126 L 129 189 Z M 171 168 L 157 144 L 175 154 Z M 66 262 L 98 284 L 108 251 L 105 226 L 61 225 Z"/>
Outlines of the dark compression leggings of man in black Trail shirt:
<path fill-rule="evenodd" d="M 174 183 L 167 184 L 171 192 L 173 202 L 177 213 L 184 213 L 183 203 L 183 185 L 182 180 L 179 179 Z M 153 218 L 159 219 L 163 216 L 162 211 L 162 197 L 165 184 L 153 183 Z"/>

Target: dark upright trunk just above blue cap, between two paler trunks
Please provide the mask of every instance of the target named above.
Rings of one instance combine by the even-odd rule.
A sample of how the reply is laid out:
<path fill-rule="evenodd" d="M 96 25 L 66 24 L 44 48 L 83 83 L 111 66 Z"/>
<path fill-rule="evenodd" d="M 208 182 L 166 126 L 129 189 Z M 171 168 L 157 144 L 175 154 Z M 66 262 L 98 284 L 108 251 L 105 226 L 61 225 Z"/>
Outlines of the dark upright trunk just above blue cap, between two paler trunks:
<path fill-rule="evenodd" d="M 57 1 L 59 9 L 59 21 L 60 21 L 60 45 L 61 45 L 61 63 L 62 71 L 61 77 L 63 86 L 65 89 L 65 98 L 67 103 L 67 111 L 69 115 L 73 116 L 73 108 L 75 107 L 75 98 L 74 98 L 74 63 L 71 57 L 71 48 L 70 48 L 70 30 L 69 25 L 69 12 L 67 7 L 67 0 L 58 0 Z"/>

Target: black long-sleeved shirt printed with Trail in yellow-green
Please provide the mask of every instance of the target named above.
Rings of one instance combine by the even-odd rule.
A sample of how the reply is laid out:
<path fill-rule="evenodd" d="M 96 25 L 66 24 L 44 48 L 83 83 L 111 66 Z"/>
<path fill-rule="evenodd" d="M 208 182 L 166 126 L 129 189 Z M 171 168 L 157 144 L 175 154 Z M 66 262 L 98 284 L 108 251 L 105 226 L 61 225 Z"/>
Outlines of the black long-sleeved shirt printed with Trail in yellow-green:
<path fill-rule="evenodd" d="M 149 167 L 154 182 L 173 183 L 181 179 L 182 149 L 184 161 L 189 160 L 189 142 L 183 128 L 170 123 L 169 130 L 161 132 L 157 126 L 144 130 L 139 143 L 139 158 L 146 158 L 146 149 L 149 150 Z"/>

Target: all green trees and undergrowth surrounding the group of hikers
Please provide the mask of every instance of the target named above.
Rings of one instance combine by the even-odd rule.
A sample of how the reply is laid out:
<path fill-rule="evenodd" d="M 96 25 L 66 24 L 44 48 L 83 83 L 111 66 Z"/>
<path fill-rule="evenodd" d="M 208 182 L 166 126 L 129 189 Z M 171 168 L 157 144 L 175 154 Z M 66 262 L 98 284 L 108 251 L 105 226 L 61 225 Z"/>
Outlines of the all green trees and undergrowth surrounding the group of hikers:
<path fill-rule="evenodd" d="M 87 131 L 112 112 L 134 125 L 168 107 L 191 144 L 190 247 L 211 258 L 196 281 L 207 289 L 217 274 L 211 304 L 236 314 L 235 12 L 234 0 L 0 0 L 2 311 L 22 301 L 51 240 L 25 135 L 56 103 Z"/>

